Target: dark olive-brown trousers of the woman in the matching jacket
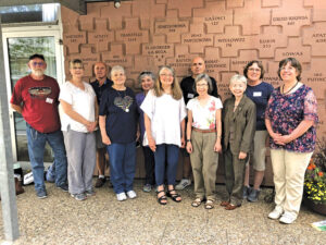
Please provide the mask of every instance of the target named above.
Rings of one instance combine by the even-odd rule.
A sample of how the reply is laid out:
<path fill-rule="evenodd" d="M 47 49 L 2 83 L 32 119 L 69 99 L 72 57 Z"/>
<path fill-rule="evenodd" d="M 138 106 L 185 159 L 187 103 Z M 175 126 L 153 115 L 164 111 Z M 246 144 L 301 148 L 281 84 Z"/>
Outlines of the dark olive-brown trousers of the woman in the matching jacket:
<path fill-rule="evenodd" d="M 225 200 L 233 205 L 241 205 L 243 199 L 243 180 L 246 159 L 240 160 L 239 155 L 233 155 L 228 148 L 224 151 L 224 164 L 225 164 L 225 185 L 227 196 Z"/>

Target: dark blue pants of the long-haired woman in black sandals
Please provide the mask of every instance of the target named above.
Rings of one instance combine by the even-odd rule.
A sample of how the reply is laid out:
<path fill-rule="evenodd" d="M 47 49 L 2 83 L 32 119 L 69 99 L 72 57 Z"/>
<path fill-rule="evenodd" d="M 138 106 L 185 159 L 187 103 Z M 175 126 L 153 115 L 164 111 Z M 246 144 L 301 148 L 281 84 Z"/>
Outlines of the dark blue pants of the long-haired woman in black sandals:
<path fill-rule="evenodd" d="M 175 176 L 178 167 L 179 147 L 176 145 L 156 145 L 155 158 L 155 180 L 156 185 L 163 185 L 165 179 L 165 158 L 167 160 L 167 184 L 175 184 Z"/>

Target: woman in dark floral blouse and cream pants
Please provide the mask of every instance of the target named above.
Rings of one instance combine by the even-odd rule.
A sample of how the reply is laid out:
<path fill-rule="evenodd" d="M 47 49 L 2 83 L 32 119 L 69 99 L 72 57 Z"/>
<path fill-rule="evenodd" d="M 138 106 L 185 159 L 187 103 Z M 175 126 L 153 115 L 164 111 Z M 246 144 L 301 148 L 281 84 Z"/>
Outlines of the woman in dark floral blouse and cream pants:
<path fill-rule="evenodd" d="M 280 218 L 281 223 L 297 219 L 304 172 L 315 149 L 317 101 L 313 90 L 300 82 L 301 71 L 294 58 L 279 62 L 284 85 L 272 94 L 265 114 L 276 191 L 276 207 L 268 218 Z"/>

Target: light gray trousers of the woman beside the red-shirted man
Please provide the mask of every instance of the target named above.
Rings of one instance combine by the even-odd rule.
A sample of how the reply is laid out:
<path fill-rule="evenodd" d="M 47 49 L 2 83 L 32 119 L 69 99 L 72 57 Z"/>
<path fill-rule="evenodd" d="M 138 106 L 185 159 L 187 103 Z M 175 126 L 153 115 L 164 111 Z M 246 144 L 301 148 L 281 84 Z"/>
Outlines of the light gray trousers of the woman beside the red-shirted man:
<path fill-rule="evenodd" d="M 63 132 L 67 157 L 67 180 L 71 194 L 80 194 L 92 188 L 92 173 L 96 167 L 95 133 L 72 130 Z"/>

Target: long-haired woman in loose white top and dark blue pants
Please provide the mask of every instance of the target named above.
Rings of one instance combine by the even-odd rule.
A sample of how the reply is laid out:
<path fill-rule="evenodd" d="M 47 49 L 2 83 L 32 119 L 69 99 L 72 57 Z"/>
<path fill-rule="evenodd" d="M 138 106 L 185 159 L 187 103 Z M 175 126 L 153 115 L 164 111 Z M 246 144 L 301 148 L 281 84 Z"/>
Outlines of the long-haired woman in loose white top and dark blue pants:
<path fill-rule="evenodd" d="M 167 196 L 174 201 L 181 201 L 175 192 L 175 176 L 177 171 L 179 147 L 185 147 L 186 106 L 183 93 L 173 69 L 162 66 L 159 78 L 142 105 L 146 134 L 143 145 L 149 146 L 155 158 L 155 182 L 158 186 L 158 201 L 166 205 L 164 192 L 165 158 L 167 161 Z"/>

